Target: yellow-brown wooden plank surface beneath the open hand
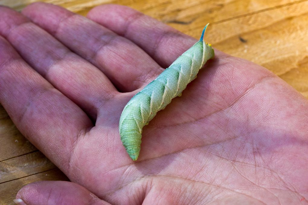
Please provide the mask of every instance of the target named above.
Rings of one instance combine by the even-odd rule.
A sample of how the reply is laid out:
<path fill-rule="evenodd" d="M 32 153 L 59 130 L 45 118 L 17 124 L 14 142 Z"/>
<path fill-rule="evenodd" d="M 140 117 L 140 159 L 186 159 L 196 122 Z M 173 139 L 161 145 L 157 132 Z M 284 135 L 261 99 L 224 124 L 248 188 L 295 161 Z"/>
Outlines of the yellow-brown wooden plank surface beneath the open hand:
<path fill-rule="evenodd" d="M 0 0 L 21 10 L 37 0 Z M 271 70 L 308 98 L 308 0 L 45 0 L 81 15 L 94 6 L 130 6 L 213 47 Z M 0 14 L 1 18 L 1 14 Z M 1 48 L 0 48 L 1 49 Z M 68 180 L 16 129 L 0 105 L 0 203 L 39 180 Z"/>

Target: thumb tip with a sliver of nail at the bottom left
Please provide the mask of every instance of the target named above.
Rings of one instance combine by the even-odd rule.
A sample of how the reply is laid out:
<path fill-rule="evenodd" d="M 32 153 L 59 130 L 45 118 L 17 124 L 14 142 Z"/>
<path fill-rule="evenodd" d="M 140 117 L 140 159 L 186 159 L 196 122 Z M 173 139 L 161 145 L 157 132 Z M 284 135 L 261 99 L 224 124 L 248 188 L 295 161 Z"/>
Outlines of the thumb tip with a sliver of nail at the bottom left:
<path fill-rule="evenodd" d="M 99 199 L 86 188 L 67 181 L 30 183 L 18 191 L 14 202 L 18 205 L 109 204 Z"/>

